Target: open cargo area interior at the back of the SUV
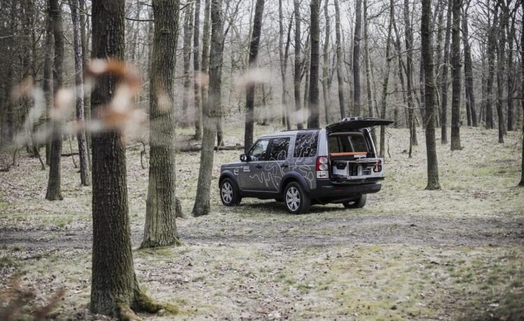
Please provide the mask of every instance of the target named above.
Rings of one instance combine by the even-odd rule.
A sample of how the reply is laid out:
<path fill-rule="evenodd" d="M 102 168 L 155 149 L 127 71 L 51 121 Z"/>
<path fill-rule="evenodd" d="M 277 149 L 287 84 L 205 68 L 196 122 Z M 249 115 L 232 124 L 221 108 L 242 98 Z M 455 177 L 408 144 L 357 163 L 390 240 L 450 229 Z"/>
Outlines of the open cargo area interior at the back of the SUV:
<path fill-rule="evenodd" d="M 370 148 L 364 133 L 351 131 L 328 135 L 330 178 L 334 181 L 382 176 L 382 164 Z"/>

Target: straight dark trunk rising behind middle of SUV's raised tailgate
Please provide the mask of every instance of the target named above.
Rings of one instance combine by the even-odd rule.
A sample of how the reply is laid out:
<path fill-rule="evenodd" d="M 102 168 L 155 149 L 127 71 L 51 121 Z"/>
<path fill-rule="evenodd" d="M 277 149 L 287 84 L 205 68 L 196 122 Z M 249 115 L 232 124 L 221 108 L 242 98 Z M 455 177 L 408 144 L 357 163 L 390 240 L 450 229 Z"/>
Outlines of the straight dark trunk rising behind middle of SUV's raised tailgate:
<path fill-rule="evenodd" d="M 353 41 L 353 115 L 361 116 L 361 25 L 362 0 L 355 3 L 355 30 Z"/>

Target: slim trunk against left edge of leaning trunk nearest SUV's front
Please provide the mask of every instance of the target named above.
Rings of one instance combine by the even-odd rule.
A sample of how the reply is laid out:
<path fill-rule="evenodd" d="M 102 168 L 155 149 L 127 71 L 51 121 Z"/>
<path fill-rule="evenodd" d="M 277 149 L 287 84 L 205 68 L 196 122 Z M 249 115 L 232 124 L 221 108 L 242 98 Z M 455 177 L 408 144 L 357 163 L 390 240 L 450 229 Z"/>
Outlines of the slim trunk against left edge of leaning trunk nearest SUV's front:
<path fill-rule="evenodd" d="M 210 3 L 211 0 L 204 1 L 204 24 L 202 31 L 202 66 L 201 66 L 201 91 L 202 91 L 202 108 L 196 110 L 195 117 L 195 140 L 202 139 L 203 114 L 208 108 L 208 81 L 203 80 L 209 75 L 209 46 L 210 46 Z"/>

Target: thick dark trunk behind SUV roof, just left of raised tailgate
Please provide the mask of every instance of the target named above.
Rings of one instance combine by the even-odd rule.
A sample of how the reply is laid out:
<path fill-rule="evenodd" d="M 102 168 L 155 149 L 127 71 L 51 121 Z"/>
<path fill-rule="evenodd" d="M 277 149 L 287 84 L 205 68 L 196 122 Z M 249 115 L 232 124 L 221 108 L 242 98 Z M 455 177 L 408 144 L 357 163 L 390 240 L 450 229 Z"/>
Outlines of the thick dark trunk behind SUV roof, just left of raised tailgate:
<path fill-rule="evenodd" d="M 310 55 L 310 91 L 309 91 L 309 117 L 308 128 L 320 127 L 319 108 L 319 52 L 320 52 L 320 0 L 311 0 L 311 55 Z"/>

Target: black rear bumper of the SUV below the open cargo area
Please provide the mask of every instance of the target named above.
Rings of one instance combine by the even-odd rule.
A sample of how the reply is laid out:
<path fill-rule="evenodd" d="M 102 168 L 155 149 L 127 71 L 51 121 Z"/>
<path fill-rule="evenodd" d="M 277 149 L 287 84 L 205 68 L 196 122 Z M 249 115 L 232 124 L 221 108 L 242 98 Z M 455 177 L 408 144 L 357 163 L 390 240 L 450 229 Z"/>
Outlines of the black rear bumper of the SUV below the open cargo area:
<path fill-rule="evenodd" d="M 358 184 L 336 184 L 332 181 L 316 180 L 316 188 L 311 191 L 314 199 L 322 202 L 351 200 L 362 194 L 377 193 L 381 190 L 382 184 L 377 181 L 367 181 Z"/>

